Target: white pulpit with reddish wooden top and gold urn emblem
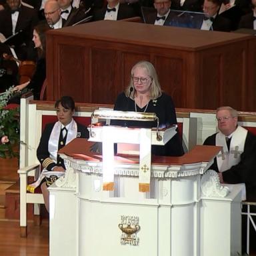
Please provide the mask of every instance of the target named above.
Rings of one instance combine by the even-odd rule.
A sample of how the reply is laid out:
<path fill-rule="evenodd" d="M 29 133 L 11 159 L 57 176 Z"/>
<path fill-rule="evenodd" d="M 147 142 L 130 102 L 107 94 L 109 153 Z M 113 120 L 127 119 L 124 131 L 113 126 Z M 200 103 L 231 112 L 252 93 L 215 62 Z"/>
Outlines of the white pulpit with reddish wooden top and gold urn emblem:
<path fill-rule="evenodd" d="M 101 128 L 91 131 L 95 141 L 103 133 Z M 107 170 L 113 185 L 105 186 L 104 156 L 92 153 L 92 144 L 74 139 L 59 151 L 68 168 L 49 188 L 50 256 L 227 256 L 227 247 L 241 252 L 234 234 L 241 234 L 241 188 L 229 193 L 216 173 L 205 174 L 220 147 L 196 146 L 182 157 L 152 157 L 149 192 L 141 192 L 140 175 L 147 171 L 141 157 L 113 157 Z M 217 224 L 211 225 L 214 213 Z M 213 240 L 218 234 L 227 245 L 223 252 Z"/>

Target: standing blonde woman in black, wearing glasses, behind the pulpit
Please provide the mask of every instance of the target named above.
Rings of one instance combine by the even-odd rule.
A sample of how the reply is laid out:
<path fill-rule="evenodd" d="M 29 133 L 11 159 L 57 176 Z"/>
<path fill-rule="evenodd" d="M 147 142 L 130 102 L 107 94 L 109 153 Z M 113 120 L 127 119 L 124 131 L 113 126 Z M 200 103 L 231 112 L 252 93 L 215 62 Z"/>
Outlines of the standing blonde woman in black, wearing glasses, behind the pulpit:
<path fill-rule="evenodd" d="M 131 69 L 131 80 L 125 91 L 118 95 L 114 110 L 156 113 L 159 128 L 176 125 L 173 100 L 160 87 L 155 67 L 148 61 L 139 61 Z M 128 127 L 157 127 L 157 122 L 111 121 Z M 153 155 L 181 156 L 184 154 L 178 133 L 165 146 L 152 146 Z"/>

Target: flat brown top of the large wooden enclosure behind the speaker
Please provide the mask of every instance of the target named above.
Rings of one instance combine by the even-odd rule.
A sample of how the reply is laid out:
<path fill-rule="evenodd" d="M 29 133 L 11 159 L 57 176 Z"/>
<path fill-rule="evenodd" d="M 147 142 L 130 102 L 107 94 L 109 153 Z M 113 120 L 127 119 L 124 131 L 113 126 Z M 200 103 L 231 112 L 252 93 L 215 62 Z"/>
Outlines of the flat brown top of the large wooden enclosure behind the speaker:
<path fill-rule="evenodd" d="M 252 35 L 240 33 L 201 31 L 200 29 L 156 26 L 128 21 L 95 21 L 74 27 L 53 29 L 47 33 L 49 35 L 64 35 L 65 37 L 167 47 L 187 51 L 198 51 L 253 38 Z"/>

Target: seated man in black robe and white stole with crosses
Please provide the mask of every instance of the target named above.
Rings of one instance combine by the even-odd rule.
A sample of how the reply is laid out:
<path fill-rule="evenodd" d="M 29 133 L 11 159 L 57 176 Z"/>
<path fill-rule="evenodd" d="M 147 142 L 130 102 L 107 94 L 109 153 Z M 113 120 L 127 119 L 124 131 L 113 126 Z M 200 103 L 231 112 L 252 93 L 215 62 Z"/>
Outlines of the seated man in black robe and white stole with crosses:
<path fill-rule="evenodd" d="M 237 125 L 237 111 L 219 107 L 216 111 L 219 132 L 204 145 L 222 146 L 210 169 L 219 172 L 223 183 L 245 183 L 247 200 L 256 201 L 256 137 Z"/>

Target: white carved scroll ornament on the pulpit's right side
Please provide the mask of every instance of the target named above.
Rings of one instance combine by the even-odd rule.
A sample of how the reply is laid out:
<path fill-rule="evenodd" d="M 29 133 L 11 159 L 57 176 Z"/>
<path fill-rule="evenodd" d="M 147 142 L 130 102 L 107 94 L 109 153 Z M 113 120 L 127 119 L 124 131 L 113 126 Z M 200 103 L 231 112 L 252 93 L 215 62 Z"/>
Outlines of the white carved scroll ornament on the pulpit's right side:
<path fill-rule="evenodd" d="M 206 197 L 226 197 L 229 188 L 221 185 L 216 171 L 208 170 L 201 178 L 201 191 Z"/>

